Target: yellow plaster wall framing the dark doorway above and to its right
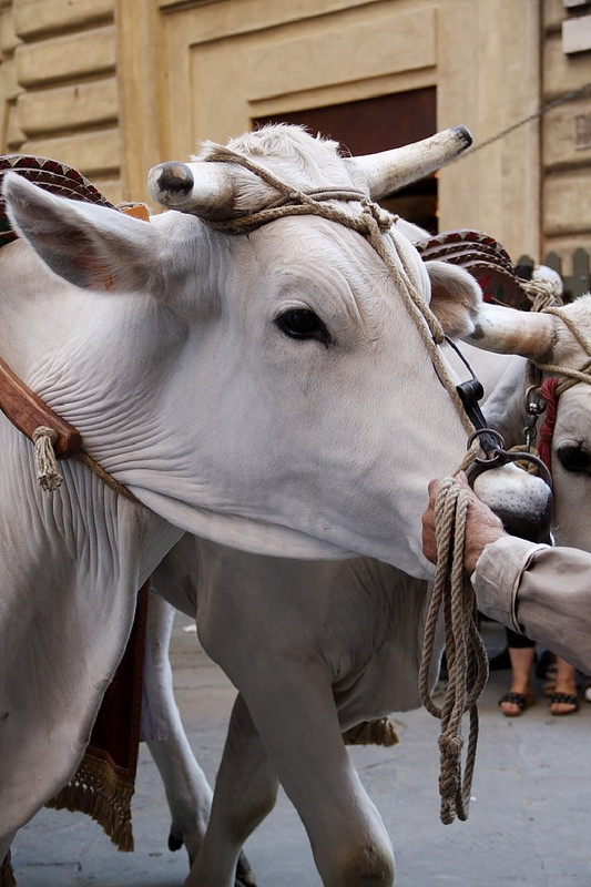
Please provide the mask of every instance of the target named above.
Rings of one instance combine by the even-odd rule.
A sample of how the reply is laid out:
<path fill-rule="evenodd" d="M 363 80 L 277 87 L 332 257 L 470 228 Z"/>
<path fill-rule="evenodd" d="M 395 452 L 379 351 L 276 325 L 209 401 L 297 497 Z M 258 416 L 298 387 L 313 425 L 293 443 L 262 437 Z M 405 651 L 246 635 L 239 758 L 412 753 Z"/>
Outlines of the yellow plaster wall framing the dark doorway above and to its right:
<path fill-rule="evenodd" d="M 161 12 L 162 62 L 176 84 L 162 114 L 165 156 L 186 159 L 256 116 L 420 86 L 437 86 L 439 128 L 463 123 L 479 142 L 538 108 L 529 0 L 161 0 Z M 537 253 L 538 159 L 533 124 L 442 171 L 440 226 Z"/>

